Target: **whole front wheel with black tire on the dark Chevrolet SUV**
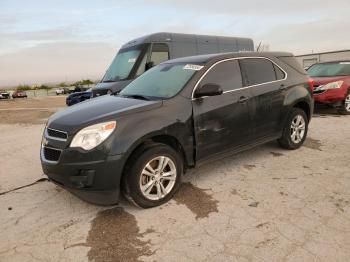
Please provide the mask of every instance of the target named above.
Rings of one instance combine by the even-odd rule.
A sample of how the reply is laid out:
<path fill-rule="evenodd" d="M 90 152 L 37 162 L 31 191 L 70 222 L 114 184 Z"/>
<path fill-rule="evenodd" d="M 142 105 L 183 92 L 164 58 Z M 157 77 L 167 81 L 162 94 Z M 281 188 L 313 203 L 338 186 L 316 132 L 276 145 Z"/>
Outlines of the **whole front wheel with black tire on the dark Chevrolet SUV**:
<path fill-rule="evenodd" d="M 159 165 L 162 160 L 166 161 L 163 169 Z M 123 193 L 131 203 L 142 208 L 162 205 L 178 190 L 182 172 L 182 158 L 174 149 L 158 143 L 145 145 L 128 161 Z"/>

